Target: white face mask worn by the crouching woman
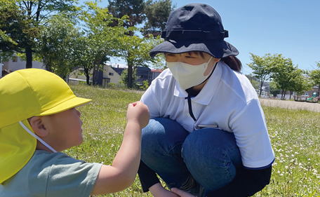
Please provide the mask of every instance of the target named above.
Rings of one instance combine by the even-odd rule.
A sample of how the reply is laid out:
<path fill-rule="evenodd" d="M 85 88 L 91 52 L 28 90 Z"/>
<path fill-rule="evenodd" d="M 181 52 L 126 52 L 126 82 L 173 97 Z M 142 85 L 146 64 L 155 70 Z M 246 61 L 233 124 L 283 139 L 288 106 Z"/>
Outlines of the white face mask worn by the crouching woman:
<path fill-rule="evenodd" d="M 204 72 L 208 68 L 208 63 L 211 61 L 212 57 L 203 64 L 192 65 L 182 62 L 166 62 L 171 73 L 175 77 L 175 81 L 178 82 L 179 86 L 186 90 L 193 86 L 197 86 L 202 82 L 206 81 L 207 77 L 210 76 L 211 72 L 204 76 Z M 214 68 L 215 66 L 213 66 Z"/>

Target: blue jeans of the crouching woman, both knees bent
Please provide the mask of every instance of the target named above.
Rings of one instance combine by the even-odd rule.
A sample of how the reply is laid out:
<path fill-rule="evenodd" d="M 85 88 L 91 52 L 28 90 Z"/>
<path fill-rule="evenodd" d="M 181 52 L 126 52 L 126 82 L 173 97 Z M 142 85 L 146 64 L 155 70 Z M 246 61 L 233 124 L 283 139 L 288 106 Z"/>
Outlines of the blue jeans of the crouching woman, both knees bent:
<path fill-rule="evenodd" d="M 180 188 L 191 175 L 205 192 L 227 185 L 243 168 L 233 133 L 202 128 L 188 133 L 169 118 L 155 118 L 142 130 L 141 160 L 169 188 Z"/>

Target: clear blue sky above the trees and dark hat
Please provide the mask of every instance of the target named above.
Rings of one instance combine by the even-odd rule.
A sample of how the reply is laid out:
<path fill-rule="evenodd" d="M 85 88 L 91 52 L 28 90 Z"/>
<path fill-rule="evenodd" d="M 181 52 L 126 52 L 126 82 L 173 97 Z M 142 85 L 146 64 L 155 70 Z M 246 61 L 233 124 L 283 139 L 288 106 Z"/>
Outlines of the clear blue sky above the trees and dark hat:
<path fill-rule="evenodd" d="M 208 4 L 218 11 L 229 31 L 225 41 L 239 50 L 244 74 L 252 72 L 246 65 L 251 62 L 250 53 L 259 56 L 278 53 L 291 58 L 300 69 L 318 69 L 319 0 L 173 0 L 176 8 L 191 3 Z M 107 6 L 107 1 L 99 6 Z"/>

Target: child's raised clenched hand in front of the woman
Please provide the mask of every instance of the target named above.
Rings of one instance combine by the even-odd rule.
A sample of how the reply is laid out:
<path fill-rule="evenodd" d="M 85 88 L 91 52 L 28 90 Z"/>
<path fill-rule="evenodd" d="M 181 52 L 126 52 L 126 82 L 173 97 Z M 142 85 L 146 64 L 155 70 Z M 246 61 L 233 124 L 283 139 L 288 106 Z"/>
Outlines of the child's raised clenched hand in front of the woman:
<path fill-rule="evenodd" d="M 149 123 L 149 118 L 149 109 L 147 105 L 143 104 L 143 102 L 138 101 L 128 105 L 128 122 L 136 122 L 141 128 L 145 128 L 145 126 Z"/>

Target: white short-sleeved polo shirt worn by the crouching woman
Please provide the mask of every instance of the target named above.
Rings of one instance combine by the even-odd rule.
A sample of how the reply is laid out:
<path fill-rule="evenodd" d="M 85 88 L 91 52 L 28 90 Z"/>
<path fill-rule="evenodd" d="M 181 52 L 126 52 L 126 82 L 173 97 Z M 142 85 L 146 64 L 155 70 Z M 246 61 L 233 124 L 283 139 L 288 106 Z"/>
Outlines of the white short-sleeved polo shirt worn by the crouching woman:
<path fill-rule="evenodd" d="M 246 168 L 263 168 L 274 161 L 265 115 L 244 74 L 218 62 L 204 88 L 192 97 L 196 121 L 189 115 L 187 95 L 166 69 L 152 81 L 141 101 L 149 107 L 151 118 L 171 118 L 189 133 L 197 125 L 218 125 L 221 130 L 234 133 Z"/>

